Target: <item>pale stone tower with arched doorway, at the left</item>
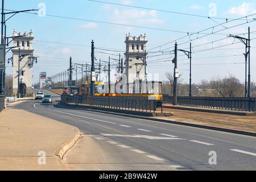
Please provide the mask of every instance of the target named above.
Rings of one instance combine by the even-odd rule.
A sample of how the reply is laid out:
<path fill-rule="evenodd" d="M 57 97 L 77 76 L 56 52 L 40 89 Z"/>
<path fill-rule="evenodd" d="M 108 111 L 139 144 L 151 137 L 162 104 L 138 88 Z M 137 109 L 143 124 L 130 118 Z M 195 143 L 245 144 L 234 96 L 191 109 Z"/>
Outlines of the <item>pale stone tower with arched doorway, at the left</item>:
<path fill-rule="evenodd" d="M 13 32 L 13 43 L 15 48 L 11 49 L 13 52 L 13 94 L 18 93 L 18 73 L 19 73 L 19 93 L 27 94 L 31 93 L 32 86 L 32 55 L 34 49 L 32 48 L 32 40 L 34 35 L 32 30 L 30 32 L 18 33 L 16 30 Z M 19 64 L 19 55 L 24 58 Z"/>

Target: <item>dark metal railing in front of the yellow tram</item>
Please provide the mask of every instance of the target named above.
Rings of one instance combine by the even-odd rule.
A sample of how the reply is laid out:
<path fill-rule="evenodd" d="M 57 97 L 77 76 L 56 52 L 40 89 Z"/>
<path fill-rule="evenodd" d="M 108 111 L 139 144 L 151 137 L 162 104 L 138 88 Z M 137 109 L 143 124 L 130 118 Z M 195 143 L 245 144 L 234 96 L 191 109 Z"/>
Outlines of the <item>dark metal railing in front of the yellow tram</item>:
<path fill-rule="evenodd" d="M 119 110 L 155 112 L 163 111 L 162 101 L 147 100 L 145 98 L 120 98 L 106 96 L 68 96 L 61 95 L 61 102 L 69 105 L 84 105 Z"/>

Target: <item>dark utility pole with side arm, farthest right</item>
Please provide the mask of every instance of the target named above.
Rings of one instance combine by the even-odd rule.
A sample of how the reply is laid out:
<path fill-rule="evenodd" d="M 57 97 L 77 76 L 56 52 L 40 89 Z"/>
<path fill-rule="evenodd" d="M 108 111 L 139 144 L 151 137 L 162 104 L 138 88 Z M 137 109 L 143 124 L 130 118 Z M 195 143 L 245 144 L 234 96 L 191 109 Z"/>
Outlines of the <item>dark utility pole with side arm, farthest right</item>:
<path fill-rule="evenodd" d="M 241 36 L 237 35 L 229 35 L 230 38 L 236 38 L 239 39 L 243 44 L 245 44 L 245 97 L 246 97 L 246 92 L 247 92 L 247 97 L 250 97 L 250 82 L 251 82 L 251 73 L 250 73 L 250 27 L 248 27 L 248 38 L 243 38 Z M 247 51 L 248 49 L 248 51 Z M 246 77 L 247 77 L 247 58 L 248 58 L 248 90 L 246 88 L 247 82 L 246 82 Z"/>

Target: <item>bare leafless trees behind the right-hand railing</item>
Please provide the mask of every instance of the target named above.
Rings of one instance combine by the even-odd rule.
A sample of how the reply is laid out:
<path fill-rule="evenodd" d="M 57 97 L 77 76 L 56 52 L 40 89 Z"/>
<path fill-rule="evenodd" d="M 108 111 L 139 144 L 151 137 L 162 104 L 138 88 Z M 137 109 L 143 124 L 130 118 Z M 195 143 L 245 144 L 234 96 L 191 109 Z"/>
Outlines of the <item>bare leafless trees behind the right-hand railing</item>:
<path fill-rule="evenodd" d="M 163 81 L 163 94 L 172 95 L 174 89 L 174 74 L 166 72 L 166 81 Z M 182 75 L 177 79 L 178 96 L 189 95 L 189 84 L 183 83 Z M 212 77 L 210 80 L 201 80 L 199 84 L 192 84 L 192 96 L 194 97 L 245 97 L 245 84 L 236 76 L 229 74 L 224 78 Z M 256 96 L 256 83 L 251 82 L 251 97 Z"/>

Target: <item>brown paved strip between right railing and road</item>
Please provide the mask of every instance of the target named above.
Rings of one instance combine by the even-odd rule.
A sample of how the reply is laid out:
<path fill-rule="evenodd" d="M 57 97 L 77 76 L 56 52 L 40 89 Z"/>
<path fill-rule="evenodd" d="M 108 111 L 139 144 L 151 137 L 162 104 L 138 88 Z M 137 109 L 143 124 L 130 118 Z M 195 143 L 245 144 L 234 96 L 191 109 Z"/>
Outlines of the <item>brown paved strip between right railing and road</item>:
<path fill-rule="evenodd" d="M 221 127 L 256 133 L 256 116 L 205 113 L 199 111 L 164 109 L 174 113 L 172 117 L 158 117 L 177 122 L 193 123 L 196 125 Z"/>

